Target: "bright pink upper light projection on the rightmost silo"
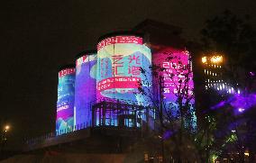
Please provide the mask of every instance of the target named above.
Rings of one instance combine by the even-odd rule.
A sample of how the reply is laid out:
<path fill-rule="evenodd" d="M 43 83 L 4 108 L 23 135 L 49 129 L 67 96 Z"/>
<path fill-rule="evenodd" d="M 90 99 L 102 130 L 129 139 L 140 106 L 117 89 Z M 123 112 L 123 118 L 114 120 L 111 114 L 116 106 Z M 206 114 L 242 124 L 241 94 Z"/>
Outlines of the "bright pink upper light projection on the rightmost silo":
<path fill-rule="evenodd" d="M 187 50 L 164 48 L 154 53 L 153 56 L 154 63 L 165 69 L 161 72 L 161 75 L 164 77 L 163 94 L 168 102 L 176 102 L 178 89 L 186 89 L 184 83 L 187 74 L 189 75 L 188 95 L 193 95 L 193 73 L 191 63 L 189 63 L 189 53 Z M 189 64 L 190 69 L 187 69 Z M 190 70 L 190 73 L 188 73 L 188 70 Z M 191 102 L 194 103 L 194 99 L 192 99 Z"/>

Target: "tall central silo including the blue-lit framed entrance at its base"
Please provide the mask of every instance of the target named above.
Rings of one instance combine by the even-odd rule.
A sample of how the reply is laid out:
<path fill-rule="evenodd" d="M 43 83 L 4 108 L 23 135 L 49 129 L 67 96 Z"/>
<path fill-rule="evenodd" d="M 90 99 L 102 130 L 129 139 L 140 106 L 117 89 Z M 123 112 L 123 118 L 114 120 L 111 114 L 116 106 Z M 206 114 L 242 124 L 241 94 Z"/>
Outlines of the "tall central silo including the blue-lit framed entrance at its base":
<path fill-rule="evenodd" d="M 99 40 L 94 126 L 141 127 L 143 121 L 153 128 L 153 113 L 143 108 L 150 107 L 149 99 L 138 90 L 142 80 L 150 81 L 142 88 L 151 89 L 150 67 L 151 50 L 143 44 L 142 36 L 126 32 L 107 34 Z"/>

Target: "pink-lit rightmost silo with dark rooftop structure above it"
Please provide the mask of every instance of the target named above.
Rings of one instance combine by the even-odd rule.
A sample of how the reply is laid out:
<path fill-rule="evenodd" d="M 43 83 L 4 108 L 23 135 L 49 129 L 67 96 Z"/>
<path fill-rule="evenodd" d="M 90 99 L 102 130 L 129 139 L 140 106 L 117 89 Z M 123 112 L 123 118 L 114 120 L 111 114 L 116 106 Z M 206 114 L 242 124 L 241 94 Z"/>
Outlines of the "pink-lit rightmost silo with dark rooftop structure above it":
<path fill-rule="evenodd" d="M 192 68 L 192 63 L 189 61 L 190 54 L 186 50 L 186 41 L 180 37 L 182 29 L 178 26 L 159 23 L 152 20 L 145 20 L 144 22 L 138 24 L 134 27 L 134 31 L 144 33 L 146 44 L 151 49 L 152 54 L 152 65 L 159 66 L 160 68 L 165 68 L 167 73 L 162 74 L 164 76 L 164 90 L 163 95 L 165 98 L 165 104 L 174 104 L 177 106 L 177 91 L 178 85 L 177 80 L 182 79 L 180 73 L 176 72 L 177 68 L 175 65 L 190 66 Z M 169 60 L 170 57 L 173 57 Z M 179 64 L 181 63 L 181 64 Z M 181 70 L 181 69 L 180 69 Z M 192 70 L 192 69 L 191 69 Z M 169 76 L 174 77 L 169 77 Z M 187 83 L 189 95 L 194 94 L 194 81 L 193 72 L 190 73 L 189 81 Z M 183 76 L 184 79 L 184 76 Z M 155 79 L 153 78 L 153 88 L 157 86 L 155 84 Z M 184 86 L 180 87 L 185 88 Z M 193 90 L 193 91 L 192 91 Z M 192 94 L 191 94 L 192 93 Z M 160 96 L 160 92 L 154 90 L 154 96 Z M 193 95 L 194 96 L 194 95 Z M 192 124 L 194 128 L 197 126 L 197 116 L 195 112 L 195 99 L 191 99 L 189 105 L 190 113 L 192 115 Z M 178 106 L 177 106 L 178 107 Z M 173 115 L 176 114 L 177 107 L 171 107 L 171 112 Z M 170 108 L 169 108 L 170 109 Z M 187 121 L 188 122 L 188 121 Z M 159 123 L 159 122 L 157 122 Z"/>

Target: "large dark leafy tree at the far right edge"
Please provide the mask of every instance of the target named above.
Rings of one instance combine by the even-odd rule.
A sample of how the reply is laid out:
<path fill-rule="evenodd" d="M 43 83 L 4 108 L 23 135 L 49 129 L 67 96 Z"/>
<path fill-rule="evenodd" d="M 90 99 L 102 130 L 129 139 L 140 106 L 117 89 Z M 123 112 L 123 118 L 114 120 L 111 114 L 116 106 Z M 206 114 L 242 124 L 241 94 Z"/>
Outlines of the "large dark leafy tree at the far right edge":
<path fill-rule="evenodd" d="M 254 55 L 256 32 L 250 25 L 250 16 L 246 15 L 240 18 L 230 11 L 225 11 L 223 14 L 207 20 L 206 27 L 201 34 L 202 51 L 206 54 L 211 54 L 214 51 L 224 55 L 224 80 L 234 87 L 240 87 L 242 95 L 245 97 L 254 94 L 256 90 L 253 76 L 256 69 Z M 228 101 L 233 95 L 222 96 L 224 101 Z M 224 150 L 236 150 L 239 153 L 239 161 L 243 162 L 248 136 L 254 135 L 251 131 L 255 130 L 248 131 L 248 127 L 251 126 L 249 124 L 255 122 L 254 118 L 246 113 L 239 115 L 233 113 L 233 110 L 238 108 L 234 108 L 230 104 L 225 104 L 219 109 L 222 112 L 215 116 L 217 126 L 214 131 L 215 145 L 213 149 L 223 151 L 219 154 L 224 153 Z M 221 146 L 221 144 L 223 145 Z M 251 154 L 255 153 L 253 148 L 250 149 Z"/>

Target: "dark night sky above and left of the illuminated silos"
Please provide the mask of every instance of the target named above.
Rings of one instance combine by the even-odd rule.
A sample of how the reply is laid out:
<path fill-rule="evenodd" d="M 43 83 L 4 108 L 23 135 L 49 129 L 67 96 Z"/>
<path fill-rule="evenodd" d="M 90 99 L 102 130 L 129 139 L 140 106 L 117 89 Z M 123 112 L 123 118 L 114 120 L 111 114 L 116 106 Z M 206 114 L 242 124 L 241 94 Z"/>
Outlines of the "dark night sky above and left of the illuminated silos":
<path fill-rule="evenodd" d="M 197 39 L 206 19 L 224 9 L 256 14 L 255 0 L 10 0 L 0 7 L 0 122 L 12 125 L 13 142 L 54 130 L 58 68 L 95 48 L 102 34 L 150 18 Z"/>

